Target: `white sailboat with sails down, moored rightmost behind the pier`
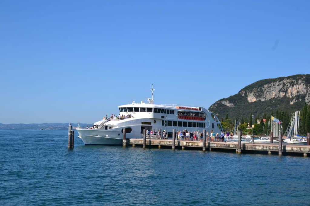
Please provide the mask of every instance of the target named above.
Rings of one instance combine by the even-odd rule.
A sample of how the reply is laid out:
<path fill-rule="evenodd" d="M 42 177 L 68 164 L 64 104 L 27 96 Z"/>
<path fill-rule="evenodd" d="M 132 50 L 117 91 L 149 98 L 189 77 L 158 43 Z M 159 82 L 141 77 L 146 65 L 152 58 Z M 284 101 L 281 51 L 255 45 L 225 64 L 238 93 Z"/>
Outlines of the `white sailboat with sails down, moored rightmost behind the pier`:
<path fill-rule="evenodd" d="M 290 123 L 284 132 L 286 135 L 286 139 L 283 139 L 283 142 L 289 143 L 289 144 L 300 144 L 300 145 L 305 145 L 307 144 L 307 141 L 298 135 L 298 128 L 299 128 L 299 116 L 300 116 L 300 111 L 295 111 L 292 114 Z"/>

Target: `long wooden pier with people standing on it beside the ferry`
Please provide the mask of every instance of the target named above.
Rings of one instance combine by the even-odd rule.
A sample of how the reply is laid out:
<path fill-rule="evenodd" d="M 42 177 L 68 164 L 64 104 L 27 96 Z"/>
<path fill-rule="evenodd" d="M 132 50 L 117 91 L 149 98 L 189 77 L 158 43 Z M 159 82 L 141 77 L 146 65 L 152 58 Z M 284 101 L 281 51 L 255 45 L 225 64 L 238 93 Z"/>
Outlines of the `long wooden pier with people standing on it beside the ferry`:
<path fill-rule="evenodd" d="M 145 143 L 143 142 L 145 141 Z M 130 139 L 129 144 L 133 147 L 137 145 L 145 146 L 158 146 L 158 148 L 166 147 L 166 148 L 175 148 L 179 147 L 180 149 L 186 148 L 197 148 L 203 150 L 203 141 L 186 141 L 186 140 L 175 140 L 175 144 L 173 144 L 172 139 Z M 211 151 L 212 149 L 216 150 L 235 150 L 238 152 L 238 142 L 206 142 L 206 150 Z M 241 143 L 241 152 L 244 151 L 261 151 L 271 154 L 274 152 L 275 154 L 279 153 L 279 144 L 277 143 L 264 143 L 264 144 L 252 144 L 252 143 Z M 294 144 L 284 144 L 282 145 L 282 152 L 284 154 L 294 154 L 294 153 L 303 153 L 303 156 L 310 156 L 310 145 L 294 145 Z M 238 152 L 240 153 L 240 152 Z M 281 154 L 280 154 L 281 155 Z"/>

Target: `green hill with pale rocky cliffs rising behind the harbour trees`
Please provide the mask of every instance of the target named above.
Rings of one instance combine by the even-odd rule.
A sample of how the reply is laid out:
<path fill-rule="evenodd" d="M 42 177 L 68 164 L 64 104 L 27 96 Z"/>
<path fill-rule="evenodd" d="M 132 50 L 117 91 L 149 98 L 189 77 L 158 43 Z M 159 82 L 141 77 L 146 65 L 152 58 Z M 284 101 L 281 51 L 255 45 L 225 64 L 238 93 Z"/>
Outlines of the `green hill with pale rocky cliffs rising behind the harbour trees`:
<path fill-rule="evenodd" d="M 236 95 L 220 99 L 209 108 L 220 118 L 226 114 L 233 118 L 263 115 L 271 111 L 291 112 L 310 103 L 310 74 L 264 79 L 241 89 Z"/>

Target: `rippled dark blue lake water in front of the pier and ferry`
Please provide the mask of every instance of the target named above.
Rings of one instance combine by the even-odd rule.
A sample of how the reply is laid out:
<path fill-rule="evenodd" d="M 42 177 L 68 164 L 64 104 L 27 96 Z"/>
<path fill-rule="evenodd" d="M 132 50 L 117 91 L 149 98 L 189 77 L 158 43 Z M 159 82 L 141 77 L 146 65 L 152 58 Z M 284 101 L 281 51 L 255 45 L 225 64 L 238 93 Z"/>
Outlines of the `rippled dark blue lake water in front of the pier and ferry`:
<path fill-rule="evenodd" d="M 309 205 L 310 158 L 84 146 L 0 130 L 0 205 Z"/>

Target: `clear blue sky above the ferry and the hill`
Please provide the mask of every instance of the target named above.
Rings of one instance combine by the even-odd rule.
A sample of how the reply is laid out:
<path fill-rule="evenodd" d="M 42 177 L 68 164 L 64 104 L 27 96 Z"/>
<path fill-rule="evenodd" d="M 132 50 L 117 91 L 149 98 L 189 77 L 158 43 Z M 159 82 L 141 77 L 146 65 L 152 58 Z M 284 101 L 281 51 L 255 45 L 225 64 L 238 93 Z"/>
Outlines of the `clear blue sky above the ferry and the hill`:
<path fill-rule="evenodd" d="M 0 2 L 0 123 L 93 123 L 118 105 L 209 108 L 308 74 L 309 1 Z"/>

